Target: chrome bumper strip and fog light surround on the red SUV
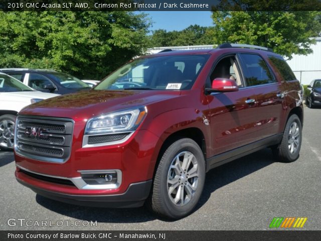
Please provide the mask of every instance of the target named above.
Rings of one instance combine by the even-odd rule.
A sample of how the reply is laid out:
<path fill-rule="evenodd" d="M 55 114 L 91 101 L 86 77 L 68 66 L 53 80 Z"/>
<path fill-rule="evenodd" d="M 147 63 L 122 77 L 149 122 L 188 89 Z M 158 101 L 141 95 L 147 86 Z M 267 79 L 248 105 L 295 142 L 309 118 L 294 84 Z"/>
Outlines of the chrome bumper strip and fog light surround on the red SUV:
<path fill-rule="evenodd" d="M 69 180 L 71 181 L 78 189 L 80 190 L 105 190 L 105 189 L 116 189 L 121 185 L 122 181 L 122 172 L 119 169 L 109 169 L 109 170 L 81 170 L 78 171 L 80 174 L 90 174 L 90 173 L 109 173 L 109 172 L 116 172 L 117 173 L 117 182 L 114 184 L 99 184 L 99 185 L 89 185 L 87 184 L 81 177 L 61 177 L 61 176 L 54 176 L 54 175 L 48 175 L 48 174 L 43 174 L 39 172 L 34 172 L 31 171 L 27 168 L 23 168 L 19 165 L 16 164 L 16 166 L 19 169 L 25 170 L 30 173 L 34 173 L 40 176 L 46 176 L 46 177 L 52 177 L 52 178 L 58 178 L 58 179 L 64 179 L 64 180 Z"/>

